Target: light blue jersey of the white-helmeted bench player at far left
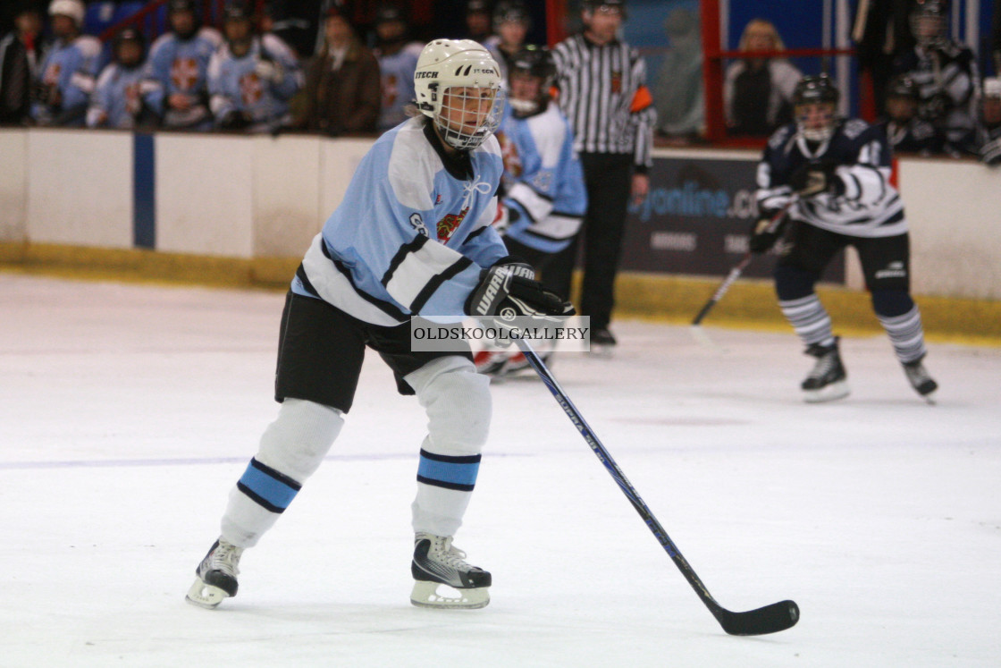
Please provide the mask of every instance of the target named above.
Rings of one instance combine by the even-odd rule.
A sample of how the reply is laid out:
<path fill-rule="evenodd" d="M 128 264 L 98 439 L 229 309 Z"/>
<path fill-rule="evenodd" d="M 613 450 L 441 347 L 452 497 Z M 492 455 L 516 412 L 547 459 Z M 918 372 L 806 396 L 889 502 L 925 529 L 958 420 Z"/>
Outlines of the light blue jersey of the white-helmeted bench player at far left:
<path fill-rule="evenodd" d="M 94 91 L 97 69 L 100 66 L 101 43 L 88 35 L 81 35 L 68 42 L 58 41 L 46 52 L 39 68 L 39 81 L 48 90 L 58 90 L 58 106 L 44 101 L 32 104 L 31 115 L 40 122 L 56 120 L 66 125 L 83 125 L 87 103 Z M 59 120 L 74 111 L 69 122 Z"/>

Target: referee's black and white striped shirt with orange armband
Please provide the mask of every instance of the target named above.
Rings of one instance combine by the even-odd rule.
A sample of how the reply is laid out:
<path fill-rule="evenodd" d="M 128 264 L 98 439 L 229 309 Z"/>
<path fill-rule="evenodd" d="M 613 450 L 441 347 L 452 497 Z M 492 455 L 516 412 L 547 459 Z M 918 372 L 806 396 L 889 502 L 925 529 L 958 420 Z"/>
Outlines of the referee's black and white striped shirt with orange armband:
<path fill-rule="evenodd" d="M 618 40 L 598 45 L 574 35 L 553 49 L 560 107 L 584 153 L 632 153 L 638 167 L 653 164 L 657 112 L 646 87 L 647 65 Z"/>

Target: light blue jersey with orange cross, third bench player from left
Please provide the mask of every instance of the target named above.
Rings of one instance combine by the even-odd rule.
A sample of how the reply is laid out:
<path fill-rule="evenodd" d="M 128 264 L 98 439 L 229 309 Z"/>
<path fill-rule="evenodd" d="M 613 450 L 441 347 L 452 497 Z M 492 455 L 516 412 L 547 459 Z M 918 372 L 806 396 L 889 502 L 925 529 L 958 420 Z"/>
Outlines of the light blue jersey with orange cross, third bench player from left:
<path fill-rule="evenodd" d="M 172 32 L 165 33 L 149 49 L 147 73 L 150 85 L 146 103 L 159 115 L 167 127 L 191 127 L 209 120 L 207 105 L 208 61 L 222 43 L 214 28 L 200 28 L 188 39 Z M 166 102 L 174 93 L 198 98 L 198 104 L 187 112 L 167 110 Z"/>

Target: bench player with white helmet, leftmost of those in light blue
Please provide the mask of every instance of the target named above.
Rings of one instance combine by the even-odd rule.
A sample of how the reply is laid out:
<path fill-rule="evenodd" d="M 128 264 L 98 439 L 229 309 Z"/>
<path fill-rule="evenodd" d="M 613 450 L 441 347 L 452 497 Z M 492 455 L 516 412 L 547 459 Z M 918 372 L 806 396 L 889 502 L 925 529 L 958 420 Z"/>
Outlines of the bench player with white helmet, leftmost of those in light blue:
<path fill-rule="evenodd" d="M 45 54 L 31 107 L 39 125 L 83 126 L 101 56 L 101 43 L 80 34 L 83 12 L 81 0 L 49 4 L 55 43 Z"/>

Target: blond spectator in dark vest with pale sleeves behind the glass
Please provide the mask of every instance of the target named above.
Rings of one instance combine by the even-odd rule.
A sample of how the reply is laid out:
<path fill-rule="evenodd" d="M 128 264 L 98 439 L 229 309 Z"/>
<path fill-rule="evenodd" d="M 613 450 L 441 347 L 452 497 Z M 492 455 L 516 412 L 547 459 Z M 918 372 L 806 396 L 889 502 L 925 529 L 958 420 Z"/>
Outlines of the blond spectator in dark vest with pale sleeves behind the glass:
<path fill-rule="evenodd" d="M 738 48 L 748 56 L 727 68 L 723 83 L 727 126 L 735 135 L 768 136 L 792 121 L 793 91 L 803 73 L 785 58 L 755 55 L 786 48 L 771 21 L 750 21 Z"/>

